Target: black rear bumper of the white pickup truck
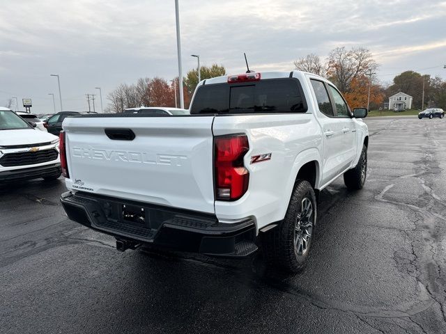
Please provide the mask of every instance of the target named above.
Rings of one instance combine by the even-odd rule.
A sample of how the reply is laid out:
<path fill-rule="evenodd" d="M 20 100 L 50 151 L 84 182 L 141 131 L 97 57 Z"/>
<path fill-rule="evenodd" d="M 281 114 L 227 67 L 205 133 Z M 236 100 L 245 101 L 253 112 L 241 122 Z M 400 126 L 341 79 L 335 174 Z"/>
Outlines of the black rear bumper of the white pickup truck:
<path fill-rule="evenodd" d="M 72 221 L 120 240 L 224 257 L 245 257 L 257 250 L 251 219 L 219 223 L 213 214 L 82 192 L 63 193 L 61 202 Z M 144 222 L 126 221 L 123 205 L 140 208 Z"/>

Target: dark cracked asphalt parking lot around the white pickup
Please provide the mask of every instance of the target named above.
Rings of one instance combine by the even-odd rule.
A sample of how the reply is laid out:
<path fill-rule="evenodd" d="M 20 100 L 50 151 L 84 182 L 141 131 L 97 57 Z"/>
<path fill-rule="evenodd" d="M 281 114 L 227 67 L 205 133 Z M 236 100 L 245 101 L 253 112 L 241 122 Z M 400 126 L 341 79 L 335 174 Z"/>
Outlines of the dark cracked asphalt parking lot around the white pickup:
<path fill-rule="evenodd" d="M 303 273 L 120 253 L 63 180 L 0 188 L 0 333 L 446 333 L 446 121 L 369 118 L 362 191 L 321 193 Z"/>

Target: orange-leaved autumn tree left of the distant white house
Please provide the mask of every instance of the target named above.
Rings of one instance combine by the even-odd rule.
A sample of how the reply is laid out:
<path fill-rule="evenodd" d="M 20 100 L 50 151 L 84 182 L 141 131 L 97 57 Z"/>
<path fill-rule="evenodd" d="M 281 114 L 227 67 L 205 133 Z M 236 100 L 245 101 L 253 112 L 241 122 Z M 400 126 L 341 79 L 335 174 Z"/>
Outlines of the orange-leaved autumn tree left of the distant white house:
<path fill-rule="evenodd" d="M 350 89 L 344 93 L 348 106 L 351 109 L 367 107 L 367 96 L 369 94 L 369 78 L 365 75 L 352 79 Z M 384 100 L 384 94 L 378 85 L 370 87 L 370 104 L 379 105 Z"/>

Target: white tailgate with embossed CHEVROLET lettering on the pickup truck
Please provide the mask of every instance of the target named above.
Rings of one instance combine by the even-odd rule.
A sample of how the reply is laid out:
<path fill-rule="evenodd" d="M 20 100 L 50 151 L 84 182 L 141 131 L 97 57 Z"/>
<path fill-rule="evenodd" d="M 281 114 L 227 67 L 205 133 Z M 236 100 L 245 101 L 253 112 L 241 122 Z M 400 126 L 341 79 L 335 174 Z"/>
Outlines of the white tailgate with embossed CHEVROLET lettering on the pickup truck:
<path fill-rule="evenodd" d="M 212 123 L 212 116 L 66 118 L 68 189 L 214 213 Z M 134 138 L 109 138 L 116 129 Z"/>

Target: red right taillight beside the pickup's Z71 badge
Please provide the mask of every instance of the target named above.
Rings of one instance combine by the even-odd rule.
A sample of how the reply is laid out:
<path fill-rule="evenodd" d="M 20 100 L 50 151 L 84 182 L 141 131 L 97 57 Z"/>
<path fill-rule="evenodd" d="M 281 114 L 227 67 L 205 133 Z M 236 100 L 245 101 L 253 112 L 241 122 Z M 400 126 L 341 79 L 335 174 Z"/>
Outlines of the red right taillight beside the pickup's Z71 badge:
<path fill-rule="evenodd" d="M 244 134 L 215 137 L 215 199 L 238 200 L 248 189 L 249 172 L 243 157 L 249 150 Z"/>

